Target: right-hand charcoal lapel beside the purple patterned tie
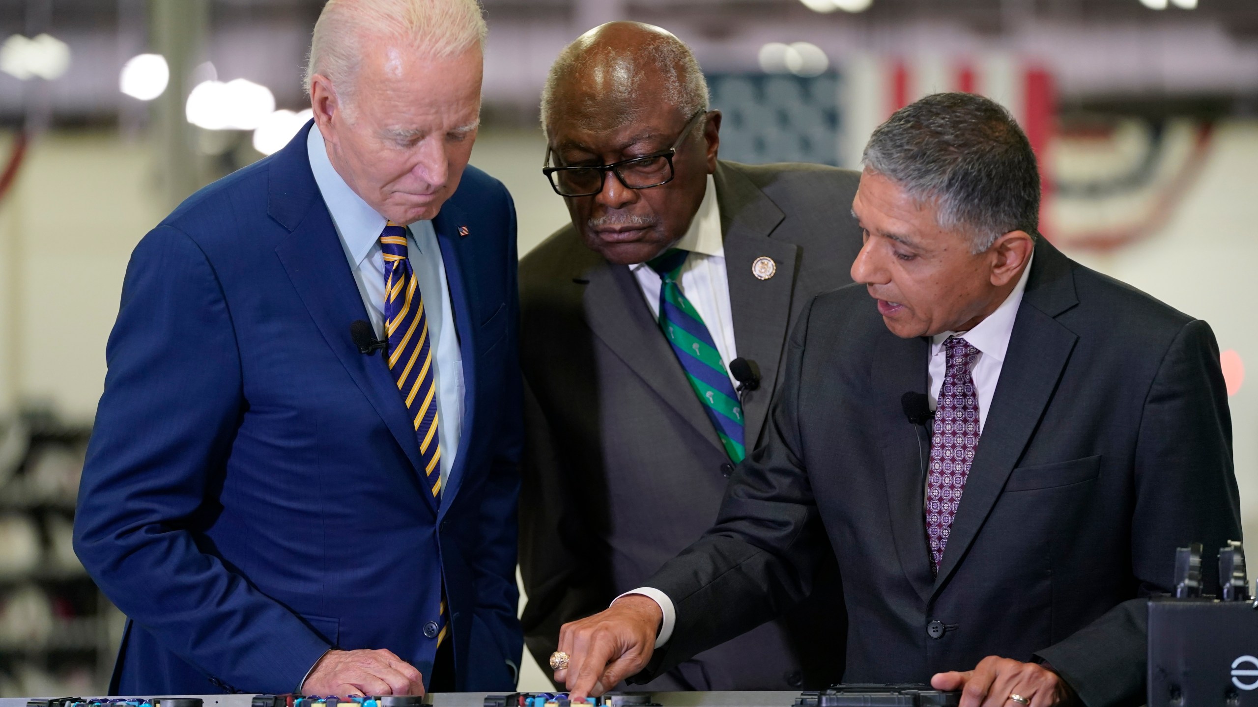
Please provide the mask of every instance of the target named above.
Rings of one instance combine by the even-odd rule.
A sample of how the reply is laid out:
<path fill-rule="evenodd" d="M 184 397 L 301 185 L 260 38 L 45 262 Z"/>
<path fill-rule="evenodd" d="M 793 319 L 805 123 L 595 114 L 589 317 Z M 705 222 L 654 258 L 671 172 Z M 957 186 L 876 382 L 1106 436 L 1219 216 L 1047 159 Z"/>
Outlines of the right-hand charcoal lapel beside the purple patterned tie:
<path fill-rule="evenodd" d="M 1053 398 L 1078 341 L 1054 317 L 1077 303 L 1069 260 L 1040 237 L 988 411 L 988 429 L 981 430 L 965 496 L 944 551 L 936 594 L 981 530 Z"/>

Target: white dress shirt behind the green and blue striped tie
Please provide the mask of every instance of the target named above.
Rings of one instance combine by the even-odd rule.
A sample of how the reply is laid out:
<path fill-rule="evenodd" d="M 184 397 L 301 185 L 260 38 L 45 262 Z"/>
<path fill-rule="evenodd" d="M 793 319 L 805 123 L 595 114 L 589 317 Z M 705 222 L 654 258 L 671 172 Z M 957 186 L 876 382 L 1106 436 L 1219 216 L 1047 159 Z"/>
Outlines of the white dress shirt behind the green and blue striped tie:
<path fill-rule="evenodd" d="M 682 277 L 678 286 L 682 294 L 689 299 L 694 309 L 703 317 L 712 341 L 716 342 L 717 353 L 725 364 L 725 374 L 730 376 L 730 382 L 738 387 L 737 379 L 730 374 L 730 361 L 738 357 L 738 350 L 733 342 L 733 313 L 730 311 L 730 278 L 725 272 L 725 238 L 721 234 L 721 209 L 716 201 L 716 180 L 712 175 L 707 179 L 707 190 L 703 192 L 703 201 L 699 203 L 698 211 L 691 221 L 691 228 L 686 235 L 677 242 L 674 248 L 689 250 L 682 265 Z M 642 296 L 647 298 L 650 312 L 659 320 L 659 273 L 650 269 L 647 263 L 629 265 L 634 277 L 638 278 L 638 287 Z"/>

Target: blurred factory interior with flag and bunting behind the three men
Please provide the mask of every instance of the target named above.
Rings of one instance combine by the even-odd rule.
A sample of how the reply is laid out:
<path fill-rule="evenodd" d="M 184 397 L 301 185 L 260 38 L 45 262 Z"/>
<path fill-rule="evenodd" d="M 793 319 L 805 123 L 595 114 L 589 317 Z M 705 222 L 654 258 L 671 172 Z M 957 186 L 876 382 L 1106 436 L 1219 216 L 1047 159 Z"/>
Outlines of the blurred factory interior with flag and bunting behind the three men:
<path fill-rule="evenodd" d="M 0 696 L 99 693 L 118 618 L 69 528 L 128 255 L 198 187 L 304 121 L 321 0 L 0 0 Z M 1258 4 L 1253 0 L 484 0 L 472 162 L 520 250 L 566 219 L 537 104 L 613 19 L 691 44 L 721 156 L 857 166 L 935 91 L 1004 102 L 1042 162 L 1044 233 L 1213 326 L 1247 536 L 1258 537 Z M 1249 313 L 1247 313 L 1249 312 Z M 1252 377 L 1252 375 L 1250 375 Z M 1253 574 L 1253 572 L 1250 572 Z M 527 657 L 522 688 L 548 683 Z"/>

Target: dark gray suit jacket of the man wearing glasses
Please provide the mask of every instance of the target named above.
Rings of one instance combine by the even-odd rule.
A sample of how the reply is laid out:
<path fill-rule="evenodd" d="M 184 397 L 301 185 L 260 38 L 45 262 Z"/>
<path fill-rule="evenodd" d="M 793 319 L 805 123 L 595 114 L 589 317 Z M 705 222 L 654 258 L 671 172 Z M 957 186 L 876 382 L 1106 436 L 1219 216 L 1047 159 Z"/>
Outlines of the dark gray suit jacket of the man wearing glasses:
<path fill-rule="evenodd" d="M 790 322 L 815 294 L 850 282 L 858 179 L 814 165 L 718 165 L 735 341 L 762 376 L 743 400 L 749 448 L 765 426 Z M 762 255 L 777 263 L 766 281 L 751 273 Z M 628 267 L 606 263 L 567 225 L 521 262 L 520 283 L 522 621 L 545 665 L 562 623 L 642 586 L 716 521 L 733 467 Z M 843 603 L 828 571 L 816 601 L 696 655 L 648 689 L 837 681 Z"/>

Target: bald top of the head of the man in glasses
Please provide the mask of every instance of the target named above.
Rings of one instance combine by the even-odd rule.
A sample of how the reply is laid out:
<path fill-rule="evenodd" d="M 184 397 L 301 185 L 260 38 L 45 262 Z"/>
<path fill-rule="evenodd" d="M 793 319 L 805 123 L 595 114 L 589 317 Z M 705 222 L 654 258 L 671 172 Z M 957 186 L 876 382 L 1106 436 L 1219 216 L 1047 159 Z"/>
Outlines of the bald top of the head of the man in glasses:
<path fill-rule="evenodd" d="M 689 117 L 708 106 L 707 81 L 691 49 L 643 23 L 599 25 L 560 52 L 542 91 L 542 128 L 556 112 L 623 120 L 668 106 Z"/>

